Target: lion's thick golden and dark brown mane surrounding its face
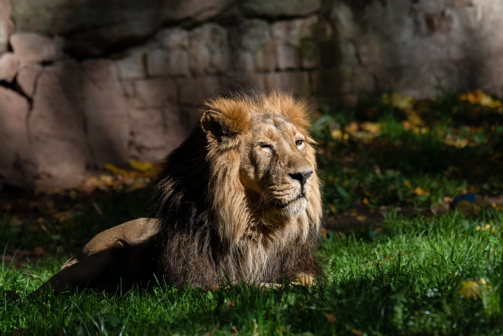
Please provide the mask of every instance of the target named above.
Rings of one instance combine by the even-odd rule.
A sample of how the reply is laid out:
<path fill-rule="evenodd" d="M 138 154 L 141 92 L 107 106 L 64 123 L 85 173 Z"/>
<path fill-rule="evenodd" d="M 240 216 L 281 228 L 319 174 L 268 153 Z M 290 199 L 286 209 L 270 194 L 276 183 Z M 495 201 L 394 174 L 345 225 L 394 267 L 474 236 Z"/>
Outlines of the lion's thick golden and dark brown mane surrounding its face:
<path fill-rule="evenodd" d="M 306 106 L 290 95 L 238 89 L 206 102 L 203 112 L 225 110 L 230 116 L 225 127 L 237 134 L 246 132 L 250 113 L 274 108 L 309 137 Z M 161 163 L 150 214 L 160 222 L 154 267 L 177 287 L 215 286 L 224 279 L 281 282 L 300 273 L 321 275 L 313 251 L 321 219 L 316 173 L 305 214 L 282 230 L 268 229 L 246 203 L 239 180 L 238 136 L 209 142 L 204 122 L 203 114 L 183 144 Z M 308 150 L 315 169 L 314 149 Z"/>

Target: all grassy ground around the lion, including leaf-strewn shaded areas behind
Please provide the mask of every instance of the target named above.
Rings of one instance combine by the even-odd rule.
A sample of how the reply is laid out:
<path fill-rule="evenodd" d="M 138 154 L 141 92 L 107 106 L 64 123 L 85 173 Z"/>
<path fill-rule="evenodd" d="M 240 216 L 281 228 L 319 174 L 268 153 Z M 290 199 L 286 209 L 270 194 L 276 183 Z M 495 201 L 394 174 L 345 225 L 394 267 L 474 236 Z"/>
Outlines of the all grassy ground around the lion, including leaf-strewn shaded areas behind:
<path fill-rule="evenodd" d="M 503 193 L 501 104 L 489 99 L 488 106 L 485 99 L 482 105 L 472 96 L 414 101 L 387 95 L 326 109 L 312 127 L 326 212 L 429 207 L 465 190 Z M 105 188 L 76 198 L 74 191 L 37 197 L 50 206 L 37 212 L 12 206 L 0 214 L 6 251 L 43 246 L 50 252 L 24 266 L 3 262 L 0 334 L 502 333 L 503 213 L 495 209 L 471 219 L 457 213 L 406 218 L 389 211 L 378 226 L 329 231 L 317 250 L 326 276 L 311 288 L 262 291 L 228 284 L 207 292 L 160 286 L 116 296 L 85 291 L 36 297 L 32 292 L 69 251 L 106 228 L 145 216 L 148 191 Z"/>

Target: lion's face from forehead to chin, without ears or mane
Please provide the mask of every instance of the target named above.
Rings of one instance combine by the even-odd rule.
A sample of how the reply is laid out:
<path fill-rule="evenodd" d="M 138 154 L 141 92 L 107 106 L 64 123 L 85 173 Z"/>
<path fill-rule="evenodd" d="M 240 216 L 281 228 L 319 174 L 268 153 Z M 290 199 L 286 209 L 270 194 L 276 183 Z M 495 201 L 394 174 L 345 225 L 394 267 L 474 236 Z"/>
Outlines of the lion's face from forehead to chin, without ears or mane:
<path fill-rule="evenodd" d="M 309 139 L 283 115 L 250 121 L 239 146 L 239 176 L 251 204 L 268 221 L 305 212 L 315 168 Z"/>

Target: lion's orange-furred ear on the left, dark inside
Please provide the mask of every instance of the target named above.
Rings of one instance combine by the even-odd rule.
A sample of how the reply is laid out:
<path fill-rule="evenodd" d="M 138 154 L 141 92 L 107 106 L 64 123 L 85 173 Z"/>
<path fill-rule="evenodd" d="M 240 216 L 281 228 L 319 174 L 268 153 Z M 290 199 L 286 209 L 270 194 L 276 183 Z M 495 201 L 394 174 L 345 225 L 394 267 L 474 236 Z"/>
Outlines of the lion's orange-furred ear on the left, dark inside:
<path fill-rule="evenodd" d="M 216 139 L 233 136 L 248 129 L 249 113 L 233 108 L 223 111 L 206 110 L 201 117 L 201 127 L 205 133 L 211 133 Z"/>

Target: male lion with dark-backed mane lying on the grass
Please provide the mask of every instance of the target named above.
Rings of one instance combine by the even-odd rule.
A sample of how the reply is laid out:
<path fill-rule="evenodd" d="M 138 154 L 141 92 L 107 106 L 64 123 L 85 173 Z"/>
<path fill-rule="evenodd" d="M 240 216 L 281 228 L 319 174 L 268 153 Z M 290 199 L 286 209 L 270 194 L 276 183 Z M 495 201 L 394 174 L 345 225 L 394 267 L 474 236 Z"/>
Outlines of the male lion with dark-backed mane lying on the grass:
<path fill-rule="evenodd" d="M 161 165 L 150 219 L 95 236 L 38 291 L 114 292 L 163 280 L 309 283 L 321 197 L 306 102 L 237 89 L 204 104 L 183 144 Z"/>

